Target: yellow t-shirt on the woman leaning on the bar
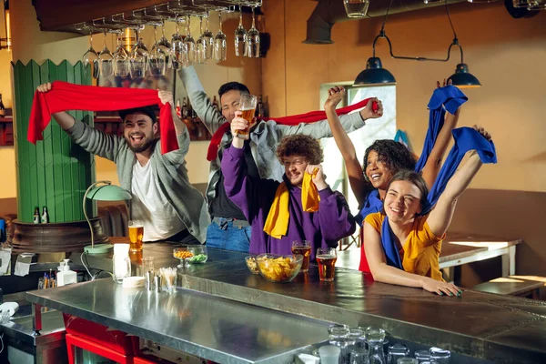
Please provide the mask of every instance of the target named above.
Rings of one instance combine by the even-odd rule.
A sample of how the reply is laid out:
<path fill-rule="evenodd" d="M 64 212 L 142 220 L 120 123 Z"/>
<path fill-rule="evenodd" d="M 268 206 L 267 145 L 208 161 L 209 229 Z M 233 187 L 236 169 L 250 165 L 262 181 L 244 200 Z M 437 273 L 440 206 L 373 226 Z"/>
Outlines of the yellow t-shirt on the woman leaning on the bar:
<path fill-rule="evenodd" d="M 440 258 L 441 240 L 445 238 L 445 235 L 442 238 L 434 235 L 430 231 L 427 217 L 423 216 L 415 219 L 410 235 L 408 235 L 400 250 L 402 266 L 409 273 L 443 281 L 438 259 Z M 381 235 L 384 219 L 385 215 L 383 213 L 376 212 L 369 214 L 364 221 L 369 223 Z"/>

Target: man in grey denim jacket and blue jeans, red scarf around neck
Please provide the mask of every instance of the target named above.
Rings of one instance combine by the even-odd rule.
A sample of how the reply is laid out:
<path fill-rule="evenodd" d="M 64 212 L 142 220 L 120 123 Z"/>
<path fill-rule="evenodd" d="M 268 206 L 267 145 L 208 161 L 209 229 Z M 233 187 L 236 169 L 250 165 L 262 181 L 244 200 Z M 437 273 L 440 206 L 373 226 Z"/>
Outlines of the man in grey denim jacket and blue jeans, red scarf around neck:
<path fill-rule="evenodd" d="M 238 82 L 229 82 L 220 86 L 221 112 L 212 105 L 203 86 L 199 82 L 196 70 L 193 66 L 181 68 L 178 75 L 186 87 L 191 105 L 197 116 L 207 126 L 208 131 L 214 134 L 224 123 L 231 123 L 236 117 L 236 111 L 248 112 L 252 107 L 241 105 L 241 96 L 250 94 L 248 87 Z M 245 100 L 242 100 L 245 102 Z M 373 111 L 372 101 L 378 101 L 378 110 Z M 256 106 L 255 106 L 256 107 Z M 339 116 L 341 125 L 347 132 L 351 132 L 364 126 L 364 121 L 369 118 L 380 117 L 383 108 L 379 100 L 370 100 L 369 105 L 359 113 Z M 239 116 L 243 116 L 242 113 Z M 210 173 L 207 186 L 207 203 L 212 223 L 207 228 L 207 246 L 213 248 L 226 248 L 230 250 L 248 251 L 251 227 L 247 217 L 241 209 L 227 198 L 224 188 L 224 175 L 220 168 L 224 150 L 230 146 L 234 136 L 238 135 L 244 140 L 244 157 L 249 177 L 273 179 L 282 181 L 284 168 L 278 162 L 275 155 L 275 146 L 284 136 L 303 134 L 314 138 L 332 136 L 328 120 L 322 120 L 312 124 L 299 124 L 298 126 L 279 125 L 274 120 L 258 120 L 248 117 L 249 124 L 243 131 L 227 131 L 219 143 L 217 157 L 210 163 Z M 246 119 L 242 117 L 242 119 Z M 235 129 L 238 130 L 238 129 Z M 246 132 L 248 130 L 248 134 Z"/>

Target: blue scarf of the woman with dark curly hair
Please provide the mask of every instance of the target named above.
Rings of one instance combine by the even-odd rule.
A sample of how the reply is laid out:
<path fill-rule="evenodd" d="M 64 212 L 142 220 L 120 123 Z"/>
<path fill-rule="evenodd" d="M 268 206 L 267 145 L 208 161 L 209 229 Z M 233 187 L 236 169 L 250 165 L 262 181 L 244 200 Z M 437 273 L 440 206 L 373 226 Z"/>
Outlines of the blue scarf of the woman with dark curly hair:
<path fill-rule="evenodd" d="M 440 87 L 434 90 L 428 105 L 430 109 L 429 130 L 427 131 L 427 136 L 425 137 L 425 145 L 419 161 L 415 165 L 416 172 L 419 173 L 427 164 L 427 159 L 429 159 L 432 147 L 434 147 L 436 138 L 438 137 L 438 134 L 440 134 L 441 127 L 443 126 L 446 109 L 451 114 L 455 114 L 459 106 L 467 101 L 468 97 L 455 86 Z M 445 106 L 445 109 L 442 106 Z M 366 161 L 364 161 L 364 163 L 366 163 Z M 379 197 L 379 191 L 374 188 L 371 190 L 368 197 L 366 197 L 366 200 L 364 201 L 364 204 L 360 208 L 360 211 L 355 219 L 359 225 L 362 226 L 364 223 L 364 218 L 366 218 L 369 214 L 380 212 L 382 210 L 383 201 L 381 201 L 381 198 Z"/>

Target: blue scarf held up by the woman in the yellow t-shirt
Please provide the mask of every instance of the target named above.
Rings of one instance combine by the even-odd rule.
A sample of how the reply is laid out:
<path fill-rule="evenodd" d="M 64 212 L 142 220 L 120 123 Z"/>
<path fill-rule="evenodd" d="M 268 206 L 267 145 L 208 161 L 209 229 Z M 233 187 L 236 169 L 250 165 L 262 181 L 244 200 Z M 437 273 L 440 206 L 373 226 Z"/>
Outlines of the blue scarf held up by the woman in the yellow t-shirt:
<path fill-rule="evenodd" d="M 464 155 L 475 149 L 480 156 L 481 162 L 497 163 L 497 155 L 495 153 L 495 145 L 492 141 L 487 140 L 481 136 L 476 130 L 471 127 L 460 127 L 453 130 L 453 139 L 455 144 L 450 150 L 450 154 L 446 158 L 445 163 L 440 169 L 440 174 L 434 182 L 434 186 L 430 188 L 429 196 L 423 201 L 423 210 L 421 215 L 426 215 L 430 212 L 432 207 L 440 198 L 441 193 L 446 188 L 448 181 L 453 176 L 457 167 L 459 167 L 460 161 Z M 385 217 L 383 225 L 381 227 L 381 244 L 385 250 L 385 257 L 387 258 L 387 264 L 392 267 L 404 269 L 402 261 L 399 256 L 398 247 L 396 245 L 396 238 L 389 226 L 389 218 Z"/>

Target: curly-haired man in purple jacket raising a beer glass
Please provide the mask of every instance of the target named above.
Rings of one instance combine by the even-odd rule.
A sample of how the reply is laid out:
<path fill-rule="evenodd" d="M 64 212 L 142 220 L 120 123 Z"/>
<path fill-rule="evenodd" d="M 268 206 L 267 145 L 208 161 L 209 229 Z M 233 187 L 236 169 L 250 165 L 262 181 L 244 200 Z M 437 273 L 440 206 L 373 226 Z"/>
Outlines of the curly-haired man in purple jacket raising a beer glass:
<path fill-rule="evenodd" d="M 237 112 L 231 122 L 234 136 L 238 136 L 238 130 L 248 127 L 248 122 L 240 116 Z M 314 259 L 317 248 L 337 248 L 340 238 L 354 233 L 355 221 L 345 197 L 332 191 L 324 180 L 319 141 L 311 136 L 296 135 L 283 138 L 277 148 L 277 157 L 285 167 L 283 180 L 289 194 L 288 229 L 280 238 L 269 236 L 264 226 L 280 183 L 248 177 L 245 154 L 250 151 L 246 148 L 248 144 L 242 138 L 234 137 L 231 147 L 224 152 L 222 171 L 227 197 L 243 211 L 252 226 L 250 253 L 291 254 L 292 241 L 308 240 L 311 259 Z M 305 212 L 302 207 L 301 184 L 306 172 L 315 172 L 312 182 L 320 197 L 317 212 Z"/>

